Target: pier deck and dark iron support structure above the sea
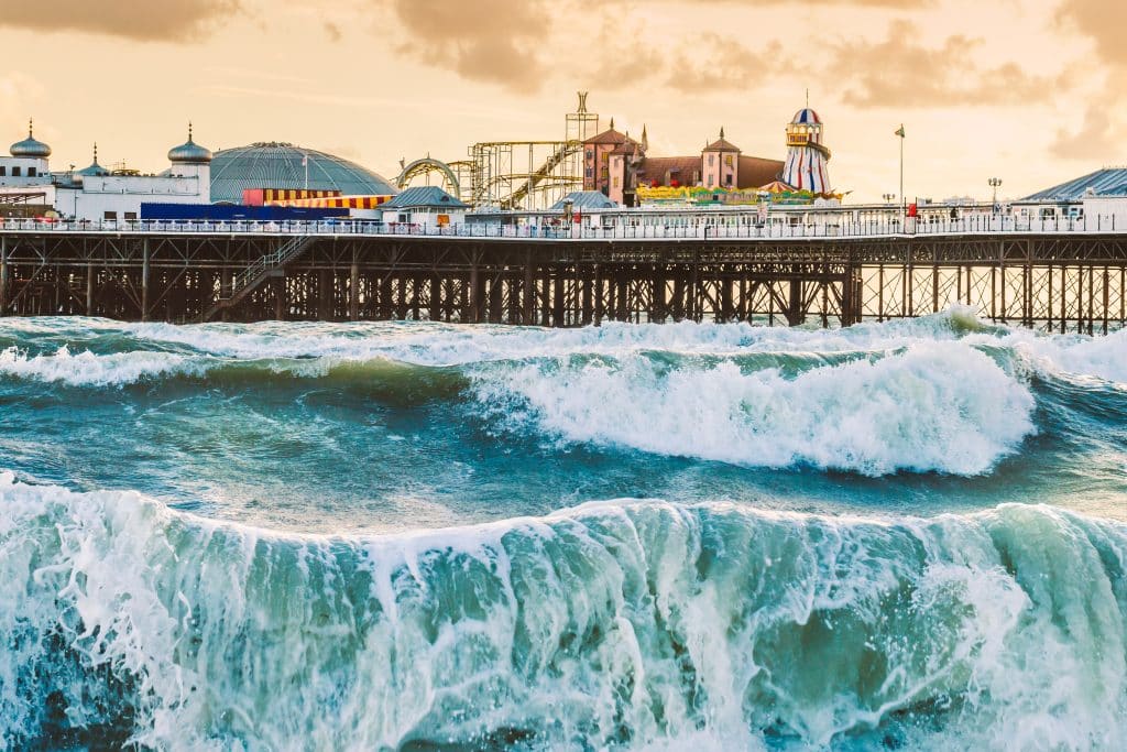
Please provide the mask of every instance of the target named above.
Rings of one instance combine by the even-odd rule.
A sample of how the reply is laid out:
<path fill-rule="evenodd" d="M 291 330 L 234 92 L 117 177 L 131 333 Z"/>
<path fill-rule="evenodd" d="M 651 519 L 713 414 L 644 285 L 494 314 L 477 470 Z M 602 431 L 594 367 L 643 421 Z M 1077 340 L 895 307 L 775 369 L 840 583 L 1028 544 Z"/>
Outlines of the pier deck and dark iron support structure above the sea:
<path fill-rule="evenodd" d="M 476 230 L 9 221 L 0 315 L 849 326 L 961 304 L 1050 331 L 1127 324 L 1127 233 L 1110 228 Z"/>

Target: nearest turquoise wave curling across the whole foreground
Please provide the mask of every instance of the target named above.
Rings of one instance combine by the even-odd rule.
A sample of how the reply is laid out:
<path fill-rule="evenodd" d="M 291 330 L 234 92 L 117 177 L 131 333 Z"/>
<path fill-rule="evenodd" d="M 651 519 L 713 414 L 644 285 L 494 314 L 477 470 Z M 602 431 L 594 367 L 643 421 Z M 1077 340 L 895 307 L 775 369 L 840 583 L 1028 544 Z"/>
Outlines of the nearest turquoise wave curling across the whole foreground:
<path fill-rule="evenodd" d="M 8 746 L 1127 741 L 1127 528 L 1045 506 L 623 501 L 354 538 L 10 475 L 0 506 Z"/>

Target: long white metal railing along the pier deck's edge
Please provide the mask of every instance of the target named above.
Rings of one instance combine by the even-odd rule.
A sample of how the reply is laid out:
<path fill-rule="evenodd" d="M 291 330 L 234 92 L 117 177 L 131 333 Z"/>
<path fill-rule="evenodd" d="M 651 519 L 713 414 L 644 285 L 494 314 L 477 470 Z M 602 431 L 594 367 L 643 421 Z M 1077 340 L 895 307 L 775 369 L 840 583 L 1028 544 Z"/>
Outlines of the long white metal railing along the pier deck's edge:
<path fill-rule="evenodd" d="M 663 223 L 660 216 L 629 218 L 614 215 L 614 222 L 600 224 L 561 223 L 552 225 L 467 222 L 446 227 L 383 223 L 362 219 L 264 222 L 250 220 L 46 220 L 2 219 L 0 232 L 106 232 L 154 235 L 272 235 L 272 236 L 420 236 L 450 238 L 513 238 L 544 240 L 680 240 L 680 239 L 804 239 L 804 238 L 882 238 L 940 235 L 1022 233 L 1100 233 L 1124 232 L 1122 218 L 1113 214 L 1085 216 L 1023 218 L 978 214 L 962 219 L 934 216 L 854 220 L 851 216 L 817 218 L 816 221 L 756 222 L 754 218 L 677 218 Z M 586 218 L 592 219 L 592 218 Z M 607 218 L 610 219 L 610 218 Z M 637 224 L 633 221 L 637 219 Z M 784 218 L 792 220 L 797 218 Z M 656 220 L 656 221 L 655 221 Z"/>

